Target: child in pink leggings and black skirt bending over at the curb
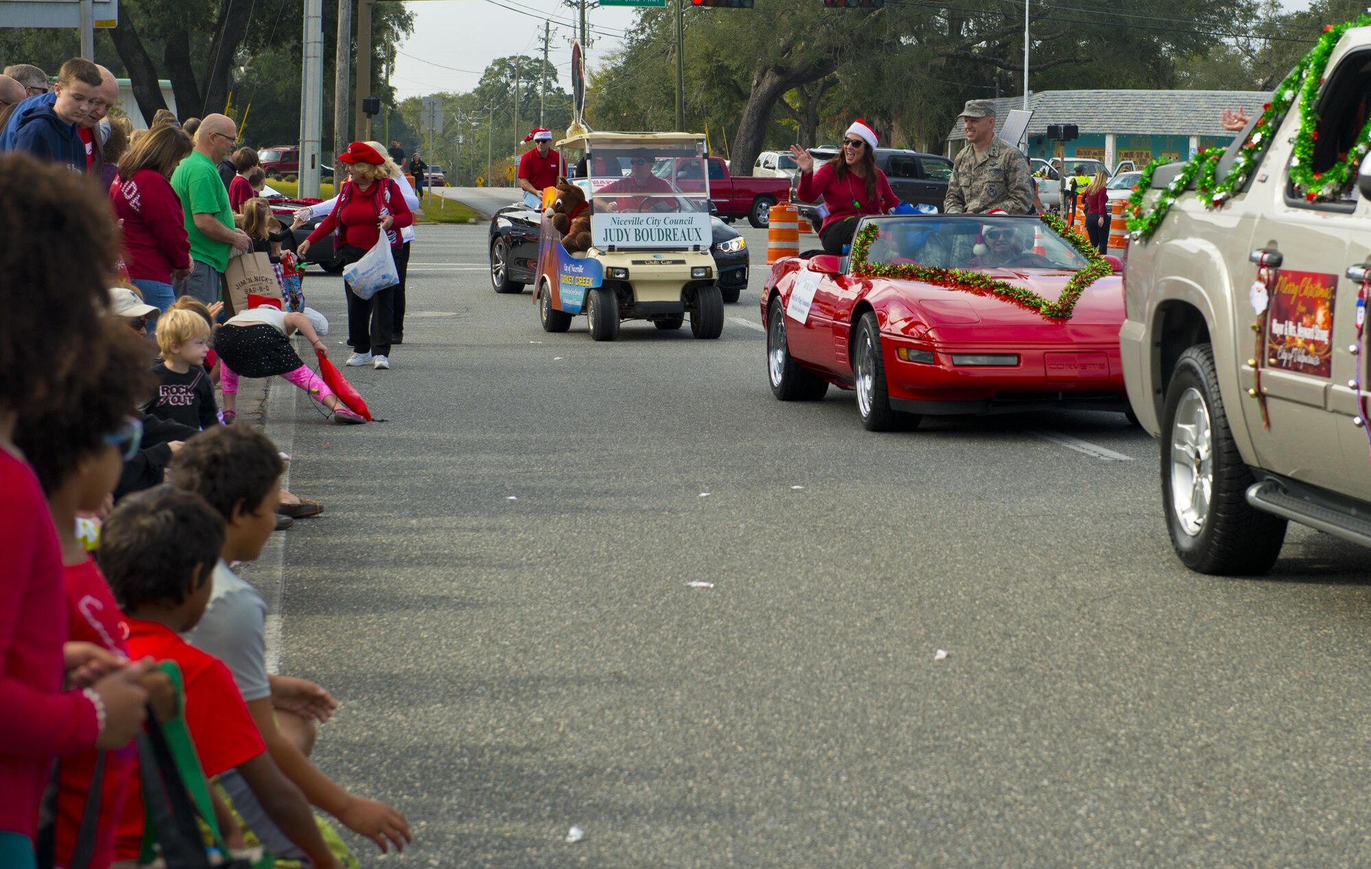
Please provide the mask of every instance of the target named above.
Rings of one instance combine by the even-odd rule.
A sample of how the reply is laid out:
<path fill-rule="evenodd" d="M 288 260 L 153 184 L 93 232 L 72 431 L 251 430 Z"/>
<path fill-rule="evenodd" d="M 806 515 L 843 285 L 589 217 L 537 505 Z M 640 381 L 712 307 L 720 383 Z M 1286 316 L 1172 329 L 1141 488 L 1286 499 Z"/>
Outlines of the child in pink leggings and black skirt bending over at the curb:
<path fill-rule="evenodd" d="M 366 422 L 361 415 L 348 410 L 333 395 L 329 385 L 300 360 L 288 337 L 293 332 L 308 339 L 319 356 L 328 358 L 328 348 L 324 347 L 324 341 L 319 340 L 314 325 L 304 314 L 288 314 L 274 307 L 256 307 L 243 311 L 219 326 L 219 332 L 214 336 L 214 348 L 219 354 L 219 382 L 223 387 L 225 417 L 237 410 L 240 376 L 280 376 L 332 410 L 335 422 Z"/>

